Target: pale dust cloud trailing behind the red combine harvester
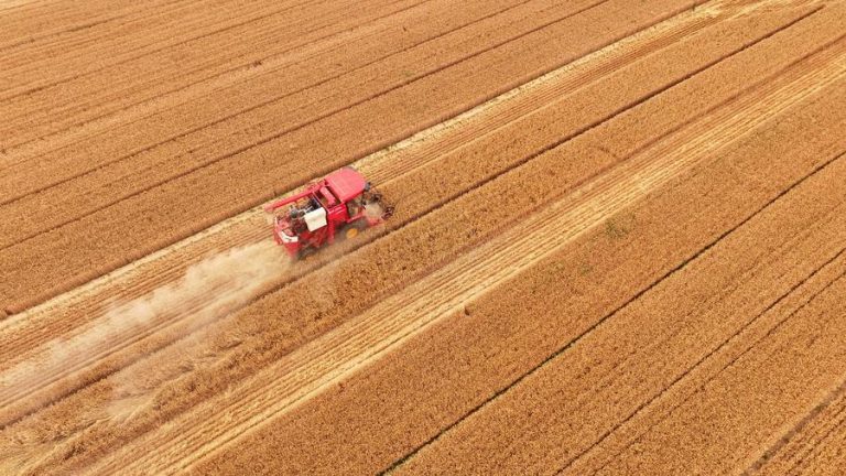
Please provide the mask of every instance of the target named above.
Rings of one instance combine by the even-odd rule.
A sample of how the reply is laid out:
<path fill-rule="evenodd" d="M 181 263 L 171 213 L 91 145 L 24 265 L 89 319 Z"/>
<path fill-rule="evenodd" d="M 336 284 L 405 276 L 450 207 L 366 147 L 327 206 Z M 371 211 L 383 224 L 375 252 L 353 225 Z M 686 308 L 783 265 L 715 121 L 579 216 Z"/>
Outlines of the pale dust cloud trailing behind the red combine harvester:
<path fill-rule="evenodd" d="M 187 335 L 242 306 L 279 280 L 290 261 L 273 242 L 230 249 L 192 264 L 173 283 L 128 302 L 112 303 L 102 316 L 73 336 L 45 343 L 35 357 L 0 375 L 0 407 L 26 398 L 56 377 L 84 369 L 104 353 L 139 333 L 178 322 L 164 333 Z M 121 393 L 135 393 L 131 389 Z"/>

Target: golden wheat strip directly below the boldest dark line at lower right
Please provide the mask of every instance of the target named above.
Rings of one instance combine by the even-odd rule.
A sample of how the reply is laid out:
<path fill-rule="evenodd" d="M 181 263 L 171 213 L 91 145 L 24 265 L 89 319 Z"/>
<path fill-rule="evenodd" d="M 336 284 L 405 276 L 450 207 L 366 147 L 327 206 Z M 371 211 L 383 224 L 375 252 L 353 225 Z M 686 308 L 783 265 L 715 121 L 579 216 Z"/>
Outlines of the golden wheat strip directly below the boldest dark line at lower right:
<path fill-rule="evenodd" d="M 832 181 L 846 176 L 845 163 L 840 161 L 826 169 L 825 178 Z M 812 186 L 784 197 L 776 208 L 780 212 L 801 210 L 803 202 L 813 199 L 821 188 L 825 188 L 825 183 L 821 173 L 813 185 L 809 184 Z M 416 457 L 412 459 L 412 466 L 405 467 L 410 469 L 406 473 L 462 473 L 460 465 L 467 464 L 470 456 L 468 450 L 476 443 L 481 446 L 477 456 L 479 461 L 485 461 L 480 464 L 486 465 L 488 470 L 500 467 L 510 473 L 516 467 L 531 465 L 525 467 L 527 473 L 546 469 L 553 474 L 562 461 L 589 447 L 605 428 L 614 428 L 616 422 L 623 421 L 628 413 L 617 412 L 619 407 L 631 408 L 659 392 L 663 397 L 665 387 L 662 387 L 666 383 L 655 385 L 652 375 L 670 369 L 674 375 L 683 375 L 687 365 L 696 361 L 694 356 L 705 355 L 712 345 L 716 346 L 723 338 L 731 336 L 737 328 L 735 326 L 740 326 L 739 321 L 749 313 L 755 315 L 766 309 L 770 299 L 776 300 L 780 293 L 790 292 L 792 283 L 800 282 L 802 278 L 791 277 L 785 282 L 788 280 L 782 280 L 782 275 L 787 270 L 799 269 L 805 277 L 815 272 L 816 267 L 831 256 L 837 256 L 846 245 L 846 235 L 842 232 L 846 224 L 843 218 L 845 206 L 842 202 L 826 199 L 822 205 L 815 204 L 809 213 L 810 217 L 791 219 L 784 219 L 783 213 L 769 209 L 766 218 L 761 216 L 737 232 L 733 231 L 725 241 L 686 266 L 679 274 L 579 337 L 578 344 L 533 369 L 525 380 L 509 387 L 508 392 L 490 405 L 451 428 L 437 443 L 419 454 L 423 462 Z M 796 223 L 814 225 L 805 230 Z M 757 244 L 756 238 L 763 236 L 763 224 L 764 229 L 784 229 L 784 234 L 773 234 L 772 240 Z M 728 264 L 733 255 L 742 258 Z M 736 266 L 735 262 L 744 264 Z M 817 288 L 825 288 L 839 278 L 844 262 L 840 260 L 832 267 L 833 270 L 825 270 L 823 274 L 827 275 Z M 767 291 L 758 294 L 761 286 Z M 804 298 L 807 299 L 807 294 Z M 801 302 L 792 305 L 793 309 L 799 307 Z M 785 306 L 779 311 L 776 317 L 789 315 L 792 309 Z M 530 316 L 527 314 L 524 317 Z M 520 322 L 519 315 L 510 318 L 514 323 Z M 764 328 L 760 334 L 766 332 Z M 692 335 L 695 337 L 691 338 Z M 751 340 L 745 342 L 752 345 Z M 685 365 L 685 361 L 688 364 Z M 650 383 L 640 383 L 639 379 Z M 702 381 L 699 379 L 692 385 L 698 386 Z M 650 392 L 644 394 L 647 387 Z M 528 428 L 525 420 L 520 418 L 527 411 L 532 413 L 536 426 Z M 578 424 L 578 415 L 586 414 L 592 415 L 590 422 Z M 572 431 L 564 430 L 567 428 Z M 509 429 L 510 433 L 502 429 Z M 507 445 L 511 445 L 517 455 L 507 453 Z M 555 450 L 551 450 L 553 447 Z M 497 461 L 500 456 L 502 459 Z M 581 467 L 567 474 L 594 474 L 595 470 L 596 467 Z"/>

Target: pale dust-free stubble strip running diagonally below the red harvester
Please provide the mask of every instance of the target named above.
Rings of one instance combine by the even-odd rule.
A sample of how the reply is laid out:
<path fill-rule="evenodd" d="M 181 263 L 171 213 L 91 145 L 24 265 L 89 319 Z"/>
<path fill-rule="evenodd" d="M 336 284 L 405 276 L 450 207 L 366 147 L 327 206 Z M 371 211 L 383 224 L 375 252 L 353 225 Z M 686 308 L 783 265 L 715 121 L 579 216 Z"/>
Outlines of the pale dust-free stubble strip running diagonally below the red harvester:
<path fill-rule="evenodd" d="M 227 414 L 231 426 L 228 431 L 224 432 L 220 428 L 212 430 L 202 425 L 185 431 L 185 426 L 191 426 L 186 424 L 187 421 L 196 419 L 202 422 L 208 416 L 208 411 L 220 411 L 221 402 L 209 401 L 200 405 L 195 413 L 183 416 L 182 421 L 173 426 L 180 430 L 174 430 L 170 435 L 160 436 L 163 441 L 158 439 L 147 441 L 148 436 L 144 436 L 138 443 L 145 448 L 166 446 L 170 452 L 166 458 L 176 458 L 178 454 L 189 455 L 185 462 L 180 463 L 180 466 L 171 468 L 178 469 L 268 418 L 290 410 L 297 401 L 302 401 L 321 387 L 355 370 L 357 366 L 372 359 L 390 346 L 397 345 L 401 339 L 420 332 L 423 326 L 431 324 L 438 316 L 471 300 L 485 289 L 512 277 L 520 269 L 536 262 L 595 226 L 604 217 L 663 185 L 695 164 L 697 160 L 756 128 L 770 115 L 777 115 L 791 105 L 802 101 L 805 96 L 799 93 L 806 90 L 809 85 L 816 84 L 825 87 L 837 79 L 844 71 L 842 67 L 833 67 L 814 73 L 806 74 L 799 80 L 794 79 L 792 84 L 781 86 L 774 91 L 766 91 L 769 94 L 762 93 L 749 97 L 740 102 L 746 108 L 740 109 L 742 113 L 727 108 L 728 113 L 707 118 L 703 123 L 692 128 L 694 131 L 709 131 L 699 137 L 695 143 L 690 141 L 690 136 L 679 134 L 675 140 L 663 143 L 657 150 L 650 150 L 649 153 L 621 165 L 620 169 L 575 193 L 575 204 L 563 201 L 529 218 L 524 226 L 518 227 L 519 230 L 498 237 L 401 294 L 380 303 L 373 312 L 368 313 L 366 321 L 356 320 L 343 325 L 329 335 L 307 344 L 290 358 L 283 359 L 283 364 L 263 370 L 251 379 L 249 385 L 240 388 L 237 394 L 227 396 L 226 404 L 229 409 Z M 761 96 L 769 100 L 761 101 Z M 562 229 L 567 231 L 562 234 Z M 444 275 L 452 275 L 452 281 L 444 280 Z M 415 296 L 417 296 L 416 301 Z M 440 301 L 437 298 L 445 298 L 445 300 Z M 423 310 L 426 312 L 423 313 Z M 362 336 L 360 332 L 362 327 L 373 334 Z M 315 359 L 315 354 L 322 359 Z M 280 367 L 292 367 L 289 361 L 299 363 L 302 368 L 289 370 L 285 374 Z M 280 377 L 281 375 L 293 375 L 295 379 L 305 377 L 308 380 L 289 381 Z M 270 376 L 273 378 L 269 379 Z M 269 381 L 272 383 L 265 385 Z M 284 389 L 289 389 L 288 394 L 283 391 Z M 296 391 L 290 393 L 291 389 Z M 285 397 L 280 398 L 281 394 Z M 215 432 L 221 434 L 212 442 L 206 441 L 208 435 Z M 127 452 L 131 451 L 127 450 Z M 134 448 L 134 451 L 138 450 Z M 161 463 L 161 458 L 164 457 L 161 453 L 155 453 L 151 458 L 159 461 L 142 458 L 137 462 L 138 466 L 131 466 L 131 468 L 139 470 L 150 467 L 151 464 Z M 123 462 L 118 457 L 115 464 L 122 465 Z M 115 467 L 107 465 L 100 469 L 110 470 Z"/>

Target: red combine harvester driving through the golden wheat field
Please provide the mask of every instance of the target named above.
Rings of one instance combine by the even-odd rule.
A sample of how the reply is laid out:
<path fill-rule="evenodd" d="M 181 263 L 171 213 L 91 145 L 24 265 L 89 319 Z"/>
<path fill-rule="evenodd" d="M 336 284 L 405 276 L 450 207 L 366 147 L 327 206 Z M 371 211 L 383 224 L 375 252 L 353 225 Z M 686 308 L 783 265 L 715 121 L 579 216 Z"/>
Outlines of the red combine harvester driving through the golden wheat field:
<path fill-rule="evenodd" d="M 276 210 L 291 205 L 288 213 Z M 274 214 L 273 239 L 295 259 L 336 239 L 355 238 L 393 215 L 382 196 L 352 167 L 344 167 L 308 185 L 303 192 L 264 206 Z"/>

